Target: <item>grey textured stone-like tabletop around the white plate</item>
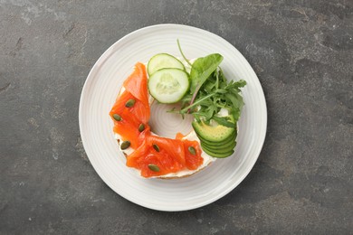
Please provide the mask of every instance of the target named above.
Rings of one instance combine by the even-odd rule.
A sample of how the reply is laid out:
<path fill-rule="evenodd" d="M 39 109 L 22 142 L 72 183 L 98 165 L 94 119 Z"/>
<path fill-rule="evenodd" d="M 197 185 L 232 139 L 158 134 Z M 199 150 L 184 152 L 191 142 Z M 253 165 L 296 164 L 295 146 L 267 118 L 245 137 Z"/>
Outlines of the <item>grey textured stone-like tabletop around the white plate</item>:
<path fill-rule="evenodd" d="M 78 107 L 138 28 L 189 24 L 243 53 L 265 92 L 253 171 L 203 208 L 151 211 L 100 180 Z M 353 1 L 0 0 L 0 233 L 353 233 Z"/>

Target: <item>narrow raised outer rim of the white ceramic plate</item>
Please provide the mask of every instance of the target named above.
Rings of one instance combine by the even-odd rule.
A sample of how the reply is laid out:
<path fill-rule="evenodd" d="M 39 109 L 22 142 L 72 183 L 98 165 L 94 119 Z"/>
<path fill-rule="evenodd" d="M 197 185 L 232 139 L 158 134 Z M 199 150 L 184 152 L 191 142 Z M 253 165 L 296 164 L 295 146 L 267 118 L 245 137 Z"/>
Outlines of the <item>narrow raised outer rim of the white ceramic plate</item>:
<path fill-rule="evenodd" d="M 214 196 L 213 198 L 210 198 L 210 199 L 205 200 L 205 201 L 203 201 L 203 202 L 198 202 L 198 203 L 196 203 L 196 204 L 194 204 L 194 205 L 187 206 L 186 208 L 180 208 L 180 209 L 170 209 L 170 210 L 169 210 L 169 209 L 164 208 L 164 207 L 162 208 L 162 207 L 157 207 L 157 206 L 153 206 L 153 205 L 151 206 L 151 205 L 148 205 L 148 204 L 146 204 L 146 203 L 141 203 L 141 202 L 138 202 L 137 200 L 130 199 L 130 198 L 126 197 L 125 195 L 121 195 L 120 193 L 118 193 L 118 192 L 114 189 L 113 185 L 110 185 L 109 182 L 107 182 L 106 180 L 104 180 L 104 179 L 105 179 L 105 176 L 103 176 L 103 174 L 100 173 L 100 170 L 97 169 L 97 167 L 98 167 L 97 165 L 92 164 L 92 162 L 91 162 L 91 157 L 90 157 L 90 155 L 88 155 L 88 153 L 87 153 L 87 150 L 86 150 L 86 149 L 88 149 L 88 147 L 87 147 L 87 146 L 88 146 L 88 143 L 86 142 L 86 138 L 82 136 L 82 133 L 84 132 L 84 131 L 83 131 L 83 127 L 82 127 L 82 126 L 83 126 L 83 124 L 82 124 L 82 123 L 83 123 L 83 114 L 82 114 L 82 111 L 83 111 L 83 102 L 84 102 L 84 101 L 82 101 L 82 100 L 83 100 L 85 94 L 88 92 L 88 91 L 87 91 L 87 89 L 88 89 L 88 88 L 87 88 L 87 87 L 88 87 L 88 83 L 90 83 L 90 81 L 94 79 L 94 75 L 93 75 L 94 71 L 97 70 L 97 67 L 99 67 L 99 64 L 100 64 L 102 61 L 108 59 L 108 58 L 106 58 L 106 57 L 107 57 L 107 54 L 109 54 L 110 51 L 111 51 L 113 48 L 115 48 L 117 44 L 119 44 L 119 42 L 125 40 L 125 38 L 128 38 L 128 37 L 133 36 L 134 34 L 138 34 L 138 33 L 140 33 L 141 31 L 148 31 L 148 30 L 150 30 L 150 29 L 155 29 L 155 28 L 158 28 L 158 27 L 162 27 L 162 28 L 164 28 L 164 27 L 176 27 L 176 28 L 180 28 L 180 29 L 182 29 L 182 28 L 187 28 L 187 29 L 189 29 L 189 30 L 198 31 L 198 32 L 201 32 L 201 33 L 210 33 L 210 34 L 212 34 L 213 36 L 222 39 L 224 42 L 226 42 L 226 43 L 228 43 L 230 46 L 232 46 L 235 51 L 239 52 L 238 49 L 237 49 L 232 43 L 228 42 L 228 41 L 225 40 L 223 37 L 221 37 L 221 36 L 219 36 L 219 35 L 217 35 L 217 34 L 215 34 L 215 33 L 212 33 L 212 32 L 210 32 L 210 31 L 208 31 L 208 30 L 201 29 L 201 28 L 197 28 L 197 27 L 195 27 L 195 26 L 190 26 L 190 25 L 186 25 L 186 24 L 152 24 L 152 25 L 148 25 L 148 26 L 139 28 L 138 30 L 132 31 L 132 32 L 130 32 L 130 33 L 124 35 L 124 36 L 121 37 L 117 42 L 114 42 L 113 44 L 111 44 L 111 45 L 108 47 L 108 49 L 106 49 L 105 52 L 103 52 L 103 53 L 100 55 L 99 59 L 98 59 L 98 60 L 93 64 L 93 66 L 91 67 L 91 71 L 90 71 L 89 74 L 87 75 L 87 78 L 86 78 L 86 80 L 85 80 L 85 82 L 84 82 L 84 84 L 83 84 L 83 87 L 82 87 L 82 89 L 81 89 L 80 106 L 79 106 L 80 136 L 81 136 L 82 146 L 83 146 L 83 148 L 84 148 L 84 150 L 85 150 L 85 153 L 86 153 L 87 157 L 90 159 L 90 163 L 91 163 L 91 165 L 93 166 L 93 169 L 94 169 L 95 172 L 100 176 L 100 179 L 101 179 L 104 183 L 106 183 L 106 184 L 110 187 L 110 189 L 111 189 L 113 192 L 117 193 L 120 197 L 122 197 L 122 198 L 128 200 L 129 202 L 133 202 L 133 203 L 135 203 L 135 204 L 138 204 L 139 206 L 142 206 L 142 207 L 145 207 L 145 208 L 148 208 L 148 209 L 151 209 L 151 210 L 156 210 L 156 211 L 190 211 L 190 210 L 195 210 L 195 209 L 197 209 L 197 208 L 203 207 L 203 206 L 205 206 L 205 205 L 208 205 L 208 204 L 210 204 L 210 203 L 212 203 L 212 202 L 215 202 L 215 201 L 217 201 L 217 200 L 223 198 L 226 194 L 228 194 L 228 193 L 230 193 L 231 191 L 233 191 L 240 183 L 243 182 L 243 179 L 244 179 L 248 174 L 250 174 L 250 172 L 251 172 L 252 169 L 253 169 L 254 164 L 256 164 L 256 162 L 258 161 L 258 158 L 259 158 L 259 156 L 260 156 L 260 154 L 261 154 L 261 152 L 262 152 L 262 147 L 263 147 L 263 144 L 264 144 L 266 135 L 267 135 L 267 126 L 268 126 L 267 103 L 266 103 L 266 98 L 265 98 L 265 95 L 264 95 L 264 92 L 263 92 L 263 89 L 262 89 L 262 84 L 261 84 L 261 82 L 260 82 L 260 80 L 259 80 L 257 74 L 255 73 L 255 71 L 253 71 L 253 67 L 251 66 L 251 64 L 249 63 L 249 61 L 247 61 L 246 58 L 243 56 L 243 54 L 242 54 L 241 52 L 239 52 L 239 54 L 243 57 L 243 58 L 242 58 L 242 59 L 243 59 L 243 62 L 247 63 L 247 65 L 248 65 L 249 68 L 250 68 L 250 72 L 253 73 L 253 75 L 254 75 L 254 76 L 256 77 L 256 79 L 257 79 L 256 82 L 258 82 L 258 84 L 260 85 L 260 90 L 259 90 L 259 91 L 260 91 L 260 97 L 261 97 L 261 99 L 262 99 L 262 101 L 263 101 L 263 102 L 262 102 L 262 105 L 263 105 L 263 107 L 262 107 L 262 108 L 263 108 L 262 114 L 263 114 L 263 118 L 264 118 L 264 119 L 262 119 L 262 121 L 263 121 L 263 123 L 264 123 L 264 130 L 263 130 L 263 132 L 261 133 L 262 136 L 260 136 L 261 139 L 260 139 L 259 145 L 258 145 L 259 148 L 258 148 L 258 150 L 256 151 L 256 154 L 255 154 L 256 157 L 254 157 L 253 162 L 251 162 L 251 164 L 249 164 L 248 169 L 245 171 L 245 173 L 242 175 L 242 177 L 239 177 L 236 181 L 234 181 L 234 183 L 231 184 L 232 186 L 226 188 L 226 190 L 222 191 L 222 193 L 218 193 L 218 194 L 217 194 L 216 196 Z M 88 140 L 87 140 L 87 141 L 88 141 Z"/>

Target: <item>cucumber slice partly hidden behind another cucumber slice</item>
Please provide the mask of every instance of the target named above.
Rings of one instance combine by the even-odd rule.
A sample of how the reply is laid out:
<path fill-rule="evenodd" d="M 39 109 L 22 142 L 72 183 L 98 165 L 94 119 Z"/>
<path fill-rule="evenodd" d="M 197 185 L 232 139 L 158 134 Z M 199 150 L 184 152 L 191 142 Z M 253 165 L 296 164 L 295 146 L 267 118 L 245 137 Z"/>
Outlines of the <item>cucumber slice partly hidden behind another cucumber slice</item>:
<path fill-rule="evenodd" d="M 148 75 L 151 76 L 155 71 L 159 71 L 161 69 L 179 69 L 185 71 L 184 64 L 177 60 L 176 57 L 167 54 L 160 53 L 153 56 L 148 61 Z"/>

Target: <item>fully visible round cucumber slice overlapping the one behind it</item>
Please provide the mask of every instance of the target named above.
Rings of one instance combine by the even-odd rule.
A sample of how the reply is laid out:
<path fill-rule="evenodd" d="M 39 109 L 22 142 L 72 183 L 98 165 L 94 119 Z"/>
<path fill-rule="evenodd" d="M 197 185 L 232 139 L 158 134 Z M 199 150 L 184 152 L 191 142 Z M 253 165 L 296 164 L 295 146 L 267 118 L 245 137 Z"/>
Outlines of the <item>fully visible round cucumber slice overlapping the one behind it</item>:
<path fill-rule="evenodd" d="M 149 94 L 160 103 L 176 103 L 184 97 L 190 86 L 186 71 L 179 69 L 162 69 L 148 79 Z"/>

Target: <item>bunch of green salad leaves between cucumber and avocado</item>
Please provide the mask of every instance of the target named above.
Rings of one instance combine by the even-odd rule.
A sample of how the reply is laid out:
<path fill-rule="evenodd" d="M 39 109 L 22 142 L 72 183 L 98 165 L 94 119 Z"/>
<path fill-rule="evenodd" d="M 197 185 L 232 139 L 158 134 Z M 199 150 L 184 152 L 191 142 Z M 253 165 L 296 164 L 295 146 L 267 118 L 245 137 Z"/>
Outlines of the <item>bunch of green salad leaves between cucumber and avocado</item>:
<path fill-rule="evenodd" d="M 182 107 L 180 110 L 170 112 L 179 113 L 183 116 L 190 113 L 196 118 L 209 123 L 211 119 L 225 127 L 235 127 L 235 123 L 240 117 L 243 108 L 243 98 L 240 95 L 241 88 L 246 85 L 244 80 L 228 81 L 222 69 L 219 67 L 223 61 L 223 56 L 214 53 L 196 59 L 191 64 L 181 50 L 180 43 L 177 45 L 184 60 L 191 65 L 190 71 L 190 92 L 181 99 Z M 220 117 L 218 114 L 221 108 L 228 110 L 234 117 Z"/>

